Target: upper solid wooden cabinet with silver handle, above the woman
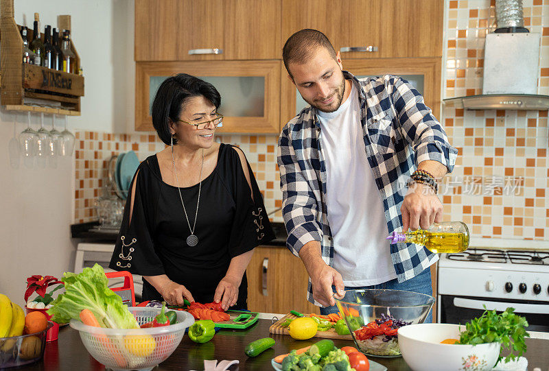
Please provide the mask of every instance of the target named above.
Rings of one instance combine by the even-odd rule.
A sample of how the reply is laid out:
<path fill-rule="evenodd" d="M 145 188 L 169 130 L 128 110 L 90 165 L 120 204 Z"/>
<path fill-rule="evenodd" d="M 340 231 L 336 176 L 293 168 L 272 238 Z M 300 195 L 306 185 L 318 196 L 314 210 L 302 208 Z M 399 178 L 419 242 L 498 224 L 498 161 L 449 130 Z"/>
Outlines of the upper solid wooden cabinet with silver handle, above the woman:
<path fill-rule="evenodd" d="M 136 0 L 135 60 L 280 59 L 281 8 L 280 0 Z"/>

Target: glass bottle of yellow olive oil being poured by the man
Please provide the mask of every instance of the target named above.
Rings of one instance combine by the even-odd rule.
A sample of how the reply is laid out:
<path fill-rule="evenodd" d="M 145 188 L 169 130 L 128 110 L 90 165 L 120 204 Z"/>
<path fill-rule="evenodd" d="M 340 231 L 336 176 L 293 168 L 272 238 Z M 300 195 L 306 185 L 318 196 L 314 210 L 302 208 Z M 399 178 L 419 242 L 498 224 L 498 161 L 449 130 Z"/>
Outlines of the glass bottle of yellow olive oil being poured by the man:
<path fill-rule="evenodd" d="M 427 230 L 393 232 L 390 243 L 417 243 L 434 253 L 462 252 L 469 247 L 469 229 L 463 222 L 434 223 Z"/>

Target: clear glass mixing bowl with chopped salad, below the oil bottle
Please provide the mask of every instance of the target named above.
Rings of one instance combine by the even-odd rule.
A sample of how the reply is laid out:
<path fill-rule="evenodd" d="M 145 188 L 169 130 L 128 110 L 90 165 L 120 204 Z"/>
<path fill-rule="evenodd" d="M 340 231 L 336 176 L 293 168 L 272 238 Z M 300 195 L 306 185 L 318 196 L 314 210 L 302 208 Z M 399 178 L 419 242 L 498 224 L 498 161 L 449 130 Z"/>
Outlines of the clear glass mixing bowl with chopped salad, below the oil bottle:
<path fill-rule="evenodd" d="M 347 290 L 334 294 L 357 348 L 374 357 L 399 357 L 397 330 L 425 321 L 434 304 L 430 295 L 400 290 Z"/>

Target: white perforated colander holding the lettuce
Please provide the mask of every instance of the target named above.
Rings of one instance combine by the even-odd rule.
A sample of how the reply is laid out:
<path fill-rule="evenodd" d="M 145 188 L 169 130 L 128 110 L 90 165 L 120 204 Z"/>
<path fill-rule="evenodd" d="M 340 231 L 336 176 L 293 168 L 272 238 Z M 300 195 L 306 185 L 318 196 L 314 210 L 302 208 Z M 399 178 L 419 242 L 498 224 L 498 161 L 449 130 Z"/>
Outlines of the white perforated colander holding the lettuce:
<path fill-rule="evenodd" d="M 139 325 L 154 320 L 160 308 L 129 307 Z M 172 355 L 183 339 L 185 328 L 194 323 L 186 311 L 176 311 L 177 323 L 152 328 L 102 328 L 71 320 L 80 331 L 86 350 L 111 370 L 152 370 Z"/>

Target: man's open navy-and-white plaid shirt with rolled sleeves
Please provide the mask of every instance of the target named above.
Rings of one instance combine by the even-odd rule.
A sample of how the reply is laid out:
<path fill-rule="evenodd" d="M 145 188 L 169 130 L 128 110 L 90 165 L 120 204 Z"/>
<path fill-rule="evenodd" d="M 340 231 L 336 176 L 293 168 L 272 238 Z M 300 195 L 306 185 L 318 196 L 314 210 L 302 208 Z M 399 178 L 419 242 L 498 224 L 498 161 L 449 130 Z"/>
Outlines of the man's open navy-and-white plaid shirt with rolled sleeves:
<path fill-rule="evenodd" d="M 393 75 L 359 80 L 347 71 L 343 73 L 358 88 L 366 156 L 383 202 L 388 230 L 401 230 L 403 179 L 424 160 L 439 161 L 451 172 L 458 151 L 448 143 L 443 128 L 425 106 L 421 94 L 406 80 Z M 282 212 L 288 230 L 286 246 L 299 256 L 305 243 L 320 241 L 323 260 L 332 265 L 334 241 L 327 218 L 326 165 L 321 135 L 316 108 L 307 106 L 280 134 L 278 165 Z M 364 236 L 364 240 L 367 238 Z M 436 254 L 413 243 L 387 248 L 390 248 L 399 283 L 417 276 L 438 259 Z M 315 302 L 310 279 L 307 291 L 307 300 Z"/>

